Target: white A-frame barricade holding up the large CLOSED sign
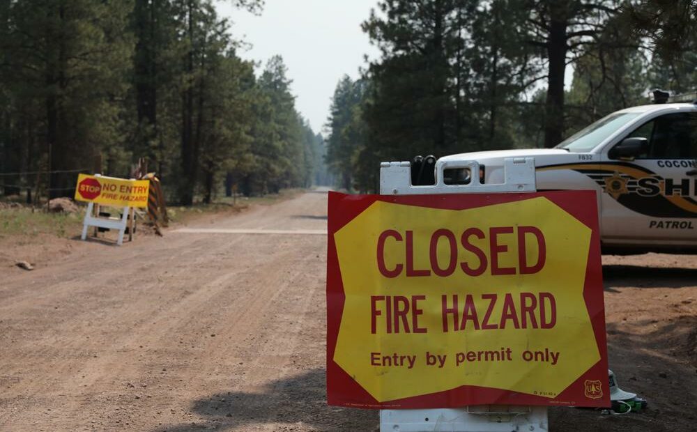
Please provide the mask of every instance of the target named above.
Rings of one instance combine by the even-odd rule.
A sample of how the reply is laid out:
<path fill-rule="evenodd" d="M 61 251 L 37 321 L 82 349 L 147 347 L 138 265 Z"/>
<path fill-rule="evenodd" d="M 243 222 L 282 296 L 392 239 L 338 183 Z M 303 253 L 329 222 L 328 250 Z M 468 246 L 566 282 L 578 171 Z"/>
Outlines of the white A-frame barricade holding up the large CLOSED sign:
<path fill-rule="evenodd" d="M 468 169 L 466 185 L 446 185 L 443 171 Z M 411 185 L 409 162 L 382 162 L 380 194 L 463 194 L 494 192 L 535 192 L 533 157 L 508 158 L 504 164 L 504 183 L 482 184 L 476 161 L 439 160 L 436 162 L 436 185 Z M 547 408 L 544 406 L 469 406 L 422 410 L 381 410 L 381 432 L 536 432 L 547 431 Z"/>

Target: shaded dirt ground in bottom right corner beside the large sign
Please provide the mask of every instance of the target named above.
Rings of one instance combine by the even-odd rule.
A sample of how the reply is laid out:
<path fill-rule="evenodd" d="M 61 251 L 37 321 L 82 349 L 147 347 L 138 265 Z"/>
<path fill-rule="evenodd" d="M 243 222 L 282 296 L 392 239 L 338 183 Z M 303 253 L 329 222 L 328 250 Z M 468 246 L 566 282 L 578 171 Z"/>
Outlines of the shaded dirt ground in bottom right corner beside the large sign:
<path fill-rule="evenodd" d="M 639 330 L 641 329 L 641 330 Z M 648 410 L 601 415 L 551 408 L 551 431 L 693 431 L 697 420 L 697 316 L 608 323 L 609 367 L 618 385 L 648 400 Z"/>

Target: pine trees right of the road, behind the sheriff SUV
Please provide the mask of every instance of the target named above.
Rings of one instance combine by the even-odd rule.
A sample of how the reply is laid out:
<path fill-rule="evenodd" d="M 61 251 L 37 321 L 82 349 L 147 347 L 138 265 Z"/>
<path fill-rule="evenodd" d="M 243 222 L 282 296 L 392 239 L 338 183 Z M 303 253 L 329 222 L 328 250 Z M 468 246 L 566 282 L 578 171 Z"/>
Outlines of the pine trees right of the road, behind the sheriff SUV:
<path fill-rule="evenodd" d="M 694 0 L 380 1 L 380 55 L 332 98 L 330 171 L 375 192 L 381 161 L 553 147 L 655 88 L 696 100 L 696 23 Z"/>

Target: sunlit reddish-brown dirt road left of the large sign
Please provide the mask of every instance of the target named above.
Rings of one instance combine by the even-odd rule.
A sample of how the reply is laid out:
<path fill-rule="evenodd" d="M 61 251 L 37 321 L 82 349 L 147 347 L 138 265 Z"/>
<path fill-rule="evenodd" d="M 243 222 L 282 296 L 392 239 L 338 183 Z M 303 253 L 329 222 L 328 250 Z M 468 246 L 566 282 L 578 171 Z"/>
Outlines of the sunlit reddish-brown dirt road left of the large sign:
<path fill-rule="evenodd" d="M 316 230 L 325 209 L 324 194 L 305 194 L 212 219 Z M 259 394 L 259 412 L 283 416 L 288 393 L 268 392 L 303 373 L 313 398 L 323 394 L 313 374 L 324 364 L 325 238 L 171 234 L 123 248 L 79 245 L 69 260 L 0 286 L 0 342 L 10 341 L 0 354 L 0 430 L 210 426 L 220 419 L 200 401 L 216 392 Z M 259 412 L 258 424 L 224 417 L 226 429 L 297 423 Z"/>

